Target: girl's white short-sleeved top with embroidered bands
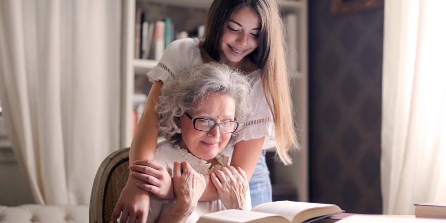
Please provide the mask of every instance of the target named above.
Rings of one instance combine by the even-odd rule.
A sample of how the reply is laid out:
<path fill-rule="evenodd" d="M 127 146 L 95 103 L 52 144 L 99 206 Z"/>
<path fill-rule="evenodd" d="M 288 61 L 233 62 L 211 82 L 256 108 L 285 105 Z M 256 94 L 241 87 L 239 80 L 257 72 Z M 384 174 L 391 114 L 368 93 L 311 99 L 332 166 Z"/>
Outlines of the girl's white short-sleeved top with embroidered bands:
<path fill-rule="evenodd" d="M 203 64 L 198 44 L 198 39 L 191 38 L 176 40 L 169 44 L 158 64 L 147 73 L 148 79 L 151 82 L 167 83 L 181 71 L 194 65 Z M 255 106 L 254 114 L 233 140 L 233 144 L 228 144 L 225 148 L 224 154 L 229 157 L 232 155 L 234 144 L 242 140 L 265 136 L 264 149 L 276 146 L 273 116 L 262 90 L 261 69 L 257 69 L 247 76 L 252 88 L 250 97 Z"/>

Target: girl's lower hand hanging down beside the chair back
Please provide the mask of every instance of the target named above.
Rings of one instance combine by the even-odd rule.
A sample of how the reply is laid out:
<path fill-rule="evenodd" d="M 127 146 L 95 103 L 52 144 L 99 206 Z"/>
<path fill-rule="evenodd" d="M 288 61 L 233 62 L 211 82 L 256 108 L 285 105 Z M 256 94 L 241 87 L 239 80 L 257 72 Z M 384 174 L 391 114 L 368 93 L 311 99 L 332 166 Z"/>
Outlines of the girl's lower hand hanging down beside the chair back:
<path fill-rule="evenodd" d="M 146 222 L 150 197 L 147 192 L 135 187 L 136 179 L 129 178 L 126 186 L 119 196 L 115 209 L 112 213 L 112 222 L 117 223 L 118 217 L 120 223 L 124 222 Z M 121 214 L 122 212 L 122 214 Z M 127 221 L 128 220 L 128 221 Z"/>

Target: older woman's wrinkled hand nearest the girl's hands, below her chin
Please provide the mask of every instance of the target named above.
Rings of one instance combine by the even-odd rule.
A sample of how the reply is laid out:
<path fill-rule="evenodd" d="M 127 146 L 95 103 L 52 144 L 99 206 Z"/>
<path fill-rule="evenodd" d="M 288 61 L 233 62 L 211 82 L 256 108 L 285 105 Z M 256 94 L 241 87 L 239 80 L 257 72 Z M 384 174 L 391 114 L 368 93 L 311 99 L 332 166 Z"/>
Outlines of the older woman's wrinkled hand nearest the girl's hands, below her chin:
<path fill-rule="evenodd" d="M 197 206 L 198 199 L 206 188 L 204 176 L 195 172 L 188 162 L 173 164 L 173 190 L 178 205 L 192 208 Z"/>

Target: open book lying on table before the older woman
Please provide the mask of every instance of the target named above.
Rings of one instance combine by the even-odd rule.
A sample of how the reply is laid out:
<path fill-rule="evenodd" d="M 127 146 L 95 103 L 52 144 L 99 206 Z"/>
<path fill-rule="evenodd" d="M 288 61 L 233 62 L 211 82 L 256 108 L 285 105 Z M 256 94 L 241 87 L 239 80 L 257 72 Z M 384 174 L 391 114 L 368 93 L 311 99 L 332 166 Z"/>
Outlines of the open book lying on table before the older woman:
<path fill-rule="evenodd" d="M 224 210 L 200 216 L 197 223 L 217 222 L 284 222 L 301 223 L 343 212 L 334 204 L 276 201 L 259 204 L 251 211 Z"/>

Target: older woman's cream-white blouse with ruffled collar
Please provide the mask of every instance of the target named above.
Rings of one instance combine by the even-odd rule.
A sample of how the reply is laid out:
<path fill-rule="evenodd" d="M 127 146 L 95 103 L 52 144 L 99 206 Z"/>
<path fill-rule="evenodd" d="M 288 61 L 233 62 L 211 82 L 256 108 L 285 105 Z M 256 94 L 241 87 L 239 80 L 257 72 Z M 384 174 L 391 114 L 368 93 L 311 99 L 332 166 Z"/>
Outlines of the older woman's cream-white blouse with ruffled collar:
<path fill-rule="evenodd" d="M 229 157 L 225 155 L 217 155 L 215 157 L 217 165 L 212 165 L 205 160 L 195 157 L 184 148 L 178 145 L 172 145 L 168 141 L 158 143 L 155 154 L 155 160 L 166 167 L 167 171 L 173 176 L 173 163 L 181 163 L 187 161 L 191 167 L 198 173 L 209 174 L 214 170 L 218 170 L 221 167 L 228 166 Z M 249 188 L 246 193 L 246 206 L 248 210 L 251 210 L 251 197 L 249 195 Z M 151 195 L 150 198 L 150 210 L 147 218 L 147 222 L 157 222 L 163 216 L 169 212 L 175 205 L 175 200 L 165 201 L 158 197 Z M 217 201 L 199 201 L 194 212 L 189 216 L 185 222 L 196 222 L 202 214 L 207 214 L 215 211 L 226 210 L 223 203 L 220 200 Z"/>

